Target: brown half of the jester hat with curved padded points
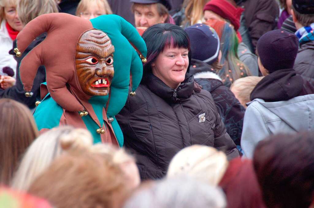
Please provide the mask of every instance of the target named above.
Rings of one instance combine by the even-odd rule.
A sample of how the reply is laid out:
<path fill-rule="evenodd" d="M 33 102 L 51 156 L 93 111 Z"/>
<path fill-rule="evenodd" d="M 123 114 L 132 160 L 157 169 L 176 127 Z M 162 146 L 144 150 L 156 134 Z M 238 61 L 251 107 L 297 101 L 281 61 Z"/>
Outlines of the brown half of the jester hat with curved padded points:
<path fill-rule="evenodd" d="M 16 38 L 21 53 L 38 35 L 47 32 L 47 36 L 21 61 L 20 78 L 24 90 L 31 91 L 37 69 L 44 65 L 51 97 L 68 111 L 83 111 L 84 107 L 70 93 L 66 83 L 81 91 L 75 70 L 76 44 L 80 35 L 92 28 L 89 20 L 67 13 L 43 14 L 25 25 Z"/>

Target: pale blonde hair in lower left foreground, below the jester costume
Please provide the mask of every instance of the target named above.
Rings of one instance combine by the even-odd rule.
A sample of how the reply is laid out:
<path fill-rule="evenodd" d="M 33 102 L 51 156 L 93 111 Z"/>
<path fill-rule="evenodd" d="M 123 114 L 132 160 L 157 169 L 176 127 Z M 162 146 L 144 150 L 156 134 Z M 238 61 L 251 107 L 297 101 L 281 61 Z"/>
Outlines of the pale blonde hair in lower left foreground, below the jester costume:
<path fill-rule="evenodd" d="M 12 181 L 12 187 L 27 190 L 33 180 L 64 150 L 90 147 L 92 144 L 92 136 L 85 129 L 62 126 L 45 132 L 26 151 Z"/>

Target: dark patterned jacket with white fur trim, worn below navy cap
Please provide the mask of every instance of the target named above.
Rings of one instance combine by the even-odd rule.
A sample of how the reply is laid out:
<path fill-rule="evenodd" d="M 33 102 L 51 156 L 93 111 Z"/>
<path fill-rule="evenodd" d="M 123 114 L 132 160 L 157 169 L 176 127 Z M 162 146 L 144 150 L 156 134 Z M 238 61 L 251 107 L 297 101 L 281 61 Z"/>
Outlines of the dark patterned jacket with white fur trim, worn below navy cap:
<path fill-rule="evenodd" d="M 236 145 L 240 145 L 245 108 L 236 99 L 231 90 L 223 85 L 219 80 L 219 76 L 211 74 L 214 73 L 214 70 L 211 70 L 210 65 L 203 61 L 192 59 L 190 73 L 197 74 L 200 72 L 203 73 L 198 74 L 197 77 L 204 78 L 195 78 L 195 82 L 201 85 L 204 90 L 210 92 L 221 120 L 226 126 L 227 133 Z"/>

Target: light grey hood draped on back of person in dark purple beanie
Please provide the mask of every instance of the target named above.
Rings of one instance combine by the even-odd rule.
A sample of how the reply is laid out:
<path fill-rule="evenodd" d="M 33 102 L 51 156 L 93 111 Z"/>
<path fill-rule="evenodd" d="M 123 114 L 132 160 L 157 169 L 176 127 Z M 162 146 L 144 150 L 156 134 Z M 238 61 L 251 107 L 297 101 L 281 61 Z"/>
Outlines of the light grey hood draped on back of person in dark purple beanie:
<path fill-rule="evenodd" d="M 265 102 L 263 99 L 254 99 L 248 104 L 253 102 L 258 102 L 265 108 L 259 110 L 272 112 L 295 131 L 300 131 L 300 129 L 313 130 L 314 94 L 302 95 L 278 102 Z"/>

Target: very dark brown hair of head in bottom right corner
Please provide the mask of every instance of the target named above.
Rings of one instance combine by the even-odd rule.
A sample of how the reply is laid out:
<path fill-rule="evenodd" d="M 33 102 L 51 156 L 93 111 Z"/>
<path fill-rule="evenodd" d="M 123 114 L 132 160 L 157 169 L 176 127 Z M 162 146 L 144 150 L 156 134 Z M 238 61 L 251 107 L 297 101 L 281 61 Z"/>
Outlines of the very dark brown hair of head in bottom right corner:
<path fill-rule="evenodd" d="M 267 207 L 308 208 L 314 197 L 314 133 L 272 135 L 260 141 L 253 164 Z"/>

